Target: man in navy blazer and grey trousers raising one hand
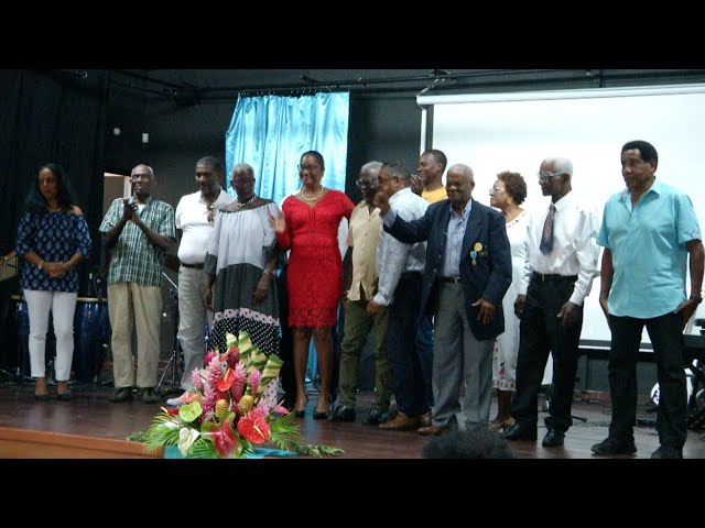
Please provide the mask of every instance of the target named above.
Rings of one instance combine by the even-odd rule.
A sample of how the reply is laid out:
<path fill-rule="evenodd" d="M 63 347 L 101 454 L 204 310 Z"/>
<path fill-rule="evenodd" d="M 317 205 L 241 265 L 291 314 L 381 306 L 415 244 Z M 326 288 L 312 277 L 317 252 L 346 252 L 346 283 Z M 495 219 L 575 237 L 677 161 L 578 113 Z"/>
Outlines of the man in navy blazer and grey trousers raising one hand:
<path fill-rule="evenodd" d="M 433 419 L 420 435 L 442 435 L 487 424 L 495 338 L 505 331 L 502 297 L 511 284 L 511 251 L 501 212 L 475 201 L 467 165 L 448 169 L 448 199 L 432 204 L 412 222 L 389 209 L 378 193 L 384 230 L 398 240 L 427 241 L 421 312 L 435 315 Z M 460 386 L 465 386 L 460 407 Z M 460 414 L 460 409 L 463 413 Z"/>

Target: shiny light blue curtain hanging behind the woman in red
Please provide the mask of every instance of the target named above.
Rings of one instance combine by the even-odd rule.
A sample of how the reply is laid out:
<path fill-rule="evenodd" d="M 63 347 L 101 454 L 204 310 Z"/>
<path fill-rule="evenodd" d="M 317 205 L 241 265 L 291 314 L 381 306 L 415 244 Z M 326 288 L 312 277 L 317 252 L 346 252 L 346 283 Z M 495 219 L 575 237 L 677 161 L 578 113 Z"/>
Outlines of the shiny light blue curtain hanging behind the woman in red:
<path fill-rule="evenodd" d="M 326 164 L 323 185 L 345 191 L 349 92 L 240 97 L 226 133 L 226 180 L 237 163 L 254 169 L 254 193 L 275 202 L 296 191 L 299 160 L 318 151 Z"/>

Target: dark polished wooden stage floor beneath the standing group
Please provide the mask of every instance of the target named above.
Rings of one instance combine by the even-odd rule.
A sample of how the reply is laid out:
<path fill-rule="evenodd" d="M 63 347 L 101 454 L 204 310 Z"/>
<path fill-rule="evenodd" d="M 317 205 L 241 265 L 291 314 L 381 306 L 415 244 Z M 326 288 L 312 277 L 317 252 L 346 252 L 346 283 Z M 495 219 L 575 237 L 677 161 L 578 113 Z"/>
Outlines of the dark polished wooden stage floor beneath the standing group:
<path fill-rule="evenodd" d="M 164 405 L 147 405 L 141 402 L 111 404 L 108 402 L 111 387 L 77 384 L 72 386 L 73 399 L 69 402 L 36 402 L 33 388 L 32 381 L 0 381 L 0 427 L 126 440 L 128 436 L 145 430 L 160 406 Z M 51 394 L 55 394 L 54 387 L 51 387 Z M 163 399 L 165 397 L 166 395 Z M 305 443 L 343 449 L 344 453 L 336 459 L 420 459 L 426 438 L 414 431 L 384 431 L 362 424 L 371 402 L 370 393 L 360 393 L 356 421 L 332 424 L 313 419 L 315 395 L 312 394 L 306 417 L 301 421 Z M 545 435 L 543 418 L 546 414 L 540 413 L 539 441 L 512 442 L 512 452 L 519 459 L 604 459 L 594 457 L 590 446 L 607 436 L 609 404 L 578 397 L 573 405 L 573 415 L 578 419 L 574 419 L 564 447 L 541 447 L 541 439 Z M 638 421 L 634 435 L 637 454 L 615 458 L 649 458 L 658 448 L 658 435 L 653 427 L 655 413 L 649 413 L 646 405 L 640 405 Z M 704 431 L 688 431 L 683 455 L 686 459 L 705 459 Z M 26 457 L 32 458 L 32 454 L 26 453 Z"/>

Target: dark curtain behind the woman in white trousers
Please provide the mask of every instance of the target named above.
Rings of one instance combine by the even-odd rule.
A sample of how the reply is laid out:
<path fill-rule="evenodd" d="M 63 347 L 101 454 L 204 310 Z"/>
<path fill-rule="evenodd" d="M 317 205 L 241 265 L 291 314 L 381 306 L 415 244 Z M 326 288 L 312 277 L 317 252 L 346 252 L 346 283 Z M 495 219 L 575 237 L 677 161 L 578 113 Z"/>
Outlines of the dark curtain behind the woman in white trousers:
<path fill-rule="evenodd" d="M 14 249 L 22 204 L 39 167 L 59 163 L 94 240 L 90 258 L 79 268 L 79 295 L 88 290 L 88 273 L 100 262 L 106 100 L 107 84 L 100 73 L 83 78 L 57 72 L 0 70 L 0 252 Z M 0 342 L 6 342 L 8 297 L 15 293 L 17 277 L 0 283 Z M 7 331 L 17 330 L 9 327 Z"/>

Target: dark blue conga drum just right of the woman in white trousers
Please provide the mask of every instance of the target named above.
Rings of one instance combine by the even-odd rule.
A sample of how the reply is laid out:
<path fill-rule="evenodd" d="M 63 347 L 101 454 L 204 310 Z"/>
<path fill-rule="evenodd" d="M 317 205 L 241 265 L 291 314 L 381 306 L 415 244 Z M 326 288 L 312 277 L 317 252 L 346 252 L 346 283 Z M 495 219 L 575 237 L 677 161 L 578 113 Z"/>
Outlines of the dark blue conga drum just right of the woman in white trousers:
<path fill-rule="evenodd" d="M 105 299 L 97 297 L 76 299 L 73 370 L 79 383 L 99 382 L 106 360 L 109 324 L 108 306 Z"/>

